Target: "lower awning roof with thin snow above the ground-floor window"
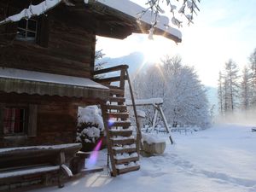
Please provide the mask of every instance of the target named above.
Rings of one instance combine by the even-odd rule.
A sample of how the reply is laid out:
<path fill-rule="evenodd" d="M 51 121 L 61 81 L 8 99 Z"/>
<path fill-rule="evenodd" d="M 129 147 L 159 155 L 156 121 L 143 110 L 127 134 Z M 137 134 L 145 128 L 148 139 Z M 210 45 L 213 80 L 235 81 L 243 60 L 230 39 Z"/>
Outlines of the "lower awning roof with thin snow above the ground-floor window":
<path fill-rule="evenodd" d="M 106 101 L 108 87 L 90 79 L 0 67 L 0 91 Z"/>

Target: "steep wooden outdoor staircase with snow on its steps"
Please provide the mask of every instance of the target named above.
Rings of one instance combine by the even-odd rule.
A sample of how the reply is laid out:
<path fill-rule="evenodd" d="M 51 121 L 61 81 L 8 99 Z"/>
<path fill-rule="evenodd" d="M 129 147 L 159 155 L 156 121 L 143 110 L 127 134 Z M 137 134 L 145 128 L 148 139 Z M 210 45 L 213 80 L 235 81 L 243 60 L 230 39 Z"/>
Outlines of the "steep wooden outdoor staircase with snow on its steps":
<path fill-rule="evenodd" d="M 95 72 L 95 75 L 119 72 L 116 77 L 95 79 L 98 83 L 108 86 L 110 89 L 108 102 L 102 104 L 102 117 L 107 135 L 108 154 L 113 177 L 125 172 L 137 171 L 140 168 L 139 141 L 141 141 L 141 132 L 138 130 L 137 124 L 137 137 L 133 135 L 131 120 L 125 105 L 125 80 L 128 80 L 131 98 L 134 102 L 127 69 L 128 66 L 121 65 Z M 136 108 L 134 108 L 134 111 L 137 117 Z"/>

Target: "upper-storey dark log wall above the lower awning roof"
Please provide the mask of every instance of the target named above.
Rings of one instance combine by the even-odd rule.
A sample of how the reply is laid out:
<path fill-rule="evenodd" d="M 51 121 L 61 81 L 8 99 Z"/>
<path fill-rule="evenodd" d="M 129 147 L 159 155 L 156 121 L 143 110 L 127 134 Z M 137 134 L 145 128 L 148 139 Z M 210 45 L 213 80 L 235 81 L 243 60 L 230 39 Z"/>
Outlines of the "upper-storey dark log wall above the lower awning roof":
<path fill-rule="evenodd" d="M 4 18 L 1 13 L 0 18 Z M 36 43 L 15 39 L 17 23 L 0 26 L 0 67 L 91 78 L 95 32 L 65 22 L 63 9 L 54 9 L 48 16 L 35 19 L 38 20 Z"/>

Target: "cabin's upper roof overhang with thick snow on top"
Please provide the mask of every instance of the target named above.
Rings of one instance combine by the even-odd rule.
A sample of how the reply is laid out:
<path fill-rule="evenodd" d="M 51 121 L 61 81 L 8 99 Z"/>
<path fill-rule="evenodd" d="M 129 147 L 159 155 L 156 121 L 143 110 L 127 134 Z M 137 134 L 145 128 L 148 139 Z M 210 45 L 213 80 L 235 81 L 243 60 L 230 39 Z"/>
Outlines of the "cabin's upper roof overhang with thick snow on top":
<path fill-rule="evenodd" d="M 45 7 L 44 1 L 48 2 L 46 3 L 48 7 Z M 47 15 L 54 15 L 67 26 L 84 28 L 103 37 L 123 39 L 131 33 L 148 33 L 154 19 L 154 14 L 147 10 L 138 20 L 138 15 L 146 9 L 129 0 L 44 1 L 34 0 L 34 5 L 29 7 L 31 1 L 12 0 L 9 5 L 14 6 L 17 13 L 9 15 L 5 20 L 0 20 L 0 25 L 47 12 Z M 172 39 L 176 43 L 181 42 L 181 32 L 170 26 L 170 20 L 166 16 L 158 15 L 157 21 L 154 34 Z"/>

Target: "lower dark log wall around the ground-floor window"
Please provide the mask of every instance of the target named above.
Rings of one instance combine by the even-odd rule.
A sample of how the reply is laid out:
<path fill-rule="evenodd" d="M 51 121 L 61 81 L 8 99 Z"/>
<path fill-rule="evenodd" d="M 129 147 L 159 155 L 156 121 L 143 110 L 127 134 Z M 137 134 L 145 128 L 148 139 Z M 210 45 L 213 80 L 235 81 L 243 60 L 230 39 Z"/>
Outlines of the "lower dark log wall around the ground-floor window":
<path fill-rule="evenodd" d="M 28 137 L 27 134 L 19 137 L 0 136 L 0 148 L 75 142 L 77 102 L 67 102 L 67 98 L 63 99 L 60 96 L 56 96 L 51 102 L 47 96 L 45 98 L 41 96 L 40 100 L 38 100 L 38 96 L 26 96 L 26 94 L 1 93 L 0 96 L 0 103 L 35 104 L 38 106 L 36 137 Z"/>

